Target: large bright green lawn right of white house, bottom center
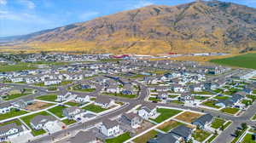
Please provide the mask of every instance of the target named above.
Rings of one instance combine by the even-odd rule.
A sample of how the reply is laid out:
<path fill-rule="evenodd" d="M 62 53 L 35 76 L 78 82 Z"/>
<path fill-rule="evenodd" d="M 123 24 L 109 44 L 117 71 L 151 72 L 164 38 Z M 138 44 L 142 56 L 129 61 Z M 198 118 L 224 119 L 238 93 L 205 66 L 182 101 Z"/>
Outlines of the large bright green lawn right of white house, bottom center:
<path fill-rule="evenodd" d="M 155 119 L 151 119 L 151 120 L 153 120 L 156 123 L 161 123 L 161 122 L 165 121 L 166 119 L 173 117 L 182 111 L 174 110 L 174 109 L 158 108 L 157 112 L 160 113 L 160 116 L 156 117 Z"/>

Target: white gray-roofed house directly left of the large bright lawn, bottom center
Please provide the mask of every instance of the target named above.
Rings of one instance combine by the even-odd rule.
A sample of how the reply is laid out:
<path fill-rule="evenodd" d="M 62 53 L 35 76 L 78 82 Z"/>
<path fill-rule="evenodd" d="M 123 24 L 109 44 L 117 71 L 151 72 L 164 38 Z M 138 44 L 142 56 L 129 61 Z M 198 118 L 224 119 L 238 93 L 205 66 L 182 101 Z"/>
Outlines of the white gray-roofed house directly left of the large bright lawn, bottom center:
<path fill-rule="evenodd" d="M 153 105 L 143 106 L 138 110 L 138 115 L 147 120 L 149 117 L 154 117 L 157 115 L 156 109 L 157 107 Z"/>

